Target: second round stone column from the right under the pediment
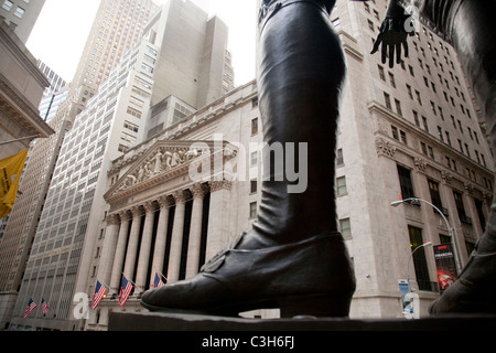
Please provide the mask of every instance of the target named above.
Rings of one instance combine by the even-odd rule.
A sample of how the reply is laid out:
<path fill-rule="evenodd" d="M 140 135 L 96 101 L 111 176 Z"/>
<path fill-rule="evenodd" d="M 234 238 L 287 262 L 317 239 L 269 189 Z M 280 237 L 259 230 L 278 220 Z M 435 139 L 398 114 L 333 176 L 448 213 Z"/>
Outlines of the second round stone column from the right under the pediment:
<path fill-rule="evenodd" d="M 173 196 L 175 200 L 175 216 L 174 227 L 172 228 L 171 255 L 169 258 L 169 284 L 177 281 L 180 276 L 181 250 L 183 247 L 184 213 L 186 208 L 186 193 L 184 191 L 177 191 Z"/>

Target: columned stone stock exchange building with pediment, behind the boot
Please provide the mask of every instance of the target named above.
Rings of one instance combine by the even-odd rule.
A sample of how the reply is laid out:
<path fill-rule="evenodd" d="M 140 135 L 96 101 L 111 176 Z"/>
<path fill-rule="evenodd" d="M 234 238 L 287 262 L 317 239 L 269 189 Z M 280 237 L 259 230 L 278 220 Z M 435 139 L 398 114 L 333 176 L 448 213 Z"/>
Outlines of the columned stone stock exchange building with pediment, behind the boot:
<path fill-rule="evenodd" d="M 105 330 L 112 311 L 145 312 L 139 298 L 157 278 L 196 275 L 250 228 L 260 201 L 261 147 L 251 82 L 112 161 L 88 279 L 88 288 L 99 281 L 108 290 L 89 311 L 87 330 Z M 123 276 L 133 291 L 121 307 Z"/>

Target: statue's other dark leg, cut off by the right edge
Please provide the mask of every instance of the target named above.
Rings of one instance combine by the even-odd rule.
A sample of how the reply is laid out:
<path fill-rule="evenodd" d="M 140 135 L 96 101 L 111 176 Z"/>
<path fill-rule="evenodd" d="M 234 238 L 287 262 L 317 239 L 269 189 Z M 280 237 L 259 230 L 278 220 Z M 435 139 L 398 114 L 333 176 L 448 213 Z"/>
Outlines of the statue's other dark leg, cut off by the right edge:
<path fill-rule="evenodd" d="M 443 19 L 496 151 L 496 1 L 456 0 Z M 441 21 L 436 21 L 441 23 Z M 496 186 L 495 186 L 496 191 Z M 459 279 L 432 303 L 432 314 L 496 313 L 496 194 L 484 236 Z"/>

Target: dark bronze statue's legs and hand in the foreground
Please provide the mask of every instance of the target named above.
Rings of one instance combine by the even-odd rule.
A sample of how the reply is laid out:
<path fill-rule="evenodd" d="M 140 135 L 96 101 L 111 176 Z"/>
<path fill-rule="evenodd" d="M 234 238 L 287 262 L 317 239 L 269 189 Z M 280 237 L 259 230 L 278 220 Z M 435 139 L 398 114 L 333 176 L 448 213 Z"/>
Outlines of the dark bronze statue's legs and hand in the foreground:
<path fill-rule="evenodd" d="M 308 188 L 290 193 L 291 180 L 266 153 L 269 174 L 252 229 L 196 277 L 145 292 L 143 307 L 222 315 L 266 308 L 280 308 L 282 318 L 348 315 L 355 277 L 337 232 L 332 163 L 346 73 L 330 21 L 334 4 L 335 0 L 262 0 L 260 10 L 257 79 L 265 142 L 308 147 Z M 373 50 L 382 45 L 382 61 L 389 58 L 390 65 L 402 53 L 408 55 L 406 43 L 412 33 L 405 25 L 403 8 L 410 6 L 457 50 L 479 101 L 486 103 L 486 122 L 494 135 L 495 21 L 489 17 L 496 13 L 496 1 L 391 0 Z M 496 286 L 496 205 L 493 210 L 471 264 L 432 312 L 495 311 L 489 299 Z"/>

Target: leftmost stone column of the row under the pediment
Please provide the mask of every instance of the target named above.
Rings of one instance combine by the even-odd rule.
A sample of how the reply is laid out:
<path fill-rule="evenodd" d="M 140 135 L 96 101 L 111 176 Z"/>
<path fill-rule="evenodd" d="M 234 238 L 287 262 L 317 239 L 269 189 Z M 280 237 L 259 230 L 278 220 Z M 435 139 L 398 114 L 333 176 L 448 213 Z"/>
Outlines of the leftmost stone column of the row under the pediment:
<path fill-rule="evenodd" d="M 117 239 L 119 235 L 120 220 L 117 214 L 107 216 L 107 229 L 105 231 L 104 247 L 98 266 L 98 280 L 108 284 L 110 280 L 114 257 L 116 255 Z"/>

